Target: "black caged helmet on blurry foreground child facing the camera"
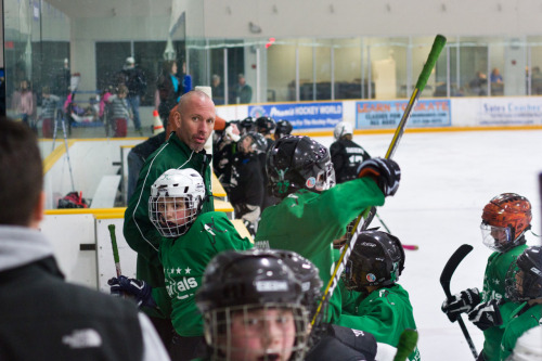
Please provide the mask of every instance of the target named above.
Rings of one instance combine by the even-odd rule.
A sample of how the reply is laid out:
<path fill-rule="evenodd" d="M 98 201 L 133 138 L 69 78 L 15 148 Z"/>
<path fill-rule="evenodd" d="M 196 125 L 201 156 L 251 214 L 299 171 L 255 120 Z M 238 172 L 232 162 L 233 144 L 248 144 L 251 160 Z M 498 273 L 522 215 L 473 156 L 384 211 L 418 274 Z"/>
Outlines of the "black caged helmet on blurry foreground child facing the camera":
<path fill-rule="evenodd" d="M 250 350 L 232 343 L 232 320 L 242 317 L 245 325 L 258 324 L 259 311 L 291 310 L 294 343 L 288 360 L 300 361 L 307 349 L 309 324 L 301 302 L 301 284 L 285 262 L 270 250 L 225 250 L 205 269 L 195 301 L 204 315 L 205 338 L 212 360 L 230 360 L 230 354 L 246 356 Z M 267 327 L 261 327 L 267 332 Z M 258 351 L 258 356 L 269 350 Z M 233 357 L 232 357 L 233 358 Z M 233 358 L 234 359 L 234 358 Z"/>

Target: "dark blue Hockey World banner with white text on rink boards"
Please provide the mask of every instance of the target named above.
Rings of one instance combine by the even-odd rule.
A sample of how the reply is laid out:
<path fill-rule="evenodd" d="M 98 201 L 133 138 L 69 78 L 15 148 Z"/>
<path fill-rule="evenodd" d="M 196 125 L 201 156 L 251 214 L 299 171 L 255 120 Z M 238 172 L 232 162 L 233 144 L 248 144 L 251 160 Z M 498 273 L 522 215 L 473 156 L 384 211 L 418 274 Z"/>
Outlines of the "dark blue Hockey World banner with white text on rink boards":
<path fill-rule="evenodd" d="M 275 121 L 288 120 L 294 129 L 334 128 L 343 120 L 343 103 L 307 103 L 307 104 L 272 104 L 250 105 L 248 116 L 272 117 Z"/>

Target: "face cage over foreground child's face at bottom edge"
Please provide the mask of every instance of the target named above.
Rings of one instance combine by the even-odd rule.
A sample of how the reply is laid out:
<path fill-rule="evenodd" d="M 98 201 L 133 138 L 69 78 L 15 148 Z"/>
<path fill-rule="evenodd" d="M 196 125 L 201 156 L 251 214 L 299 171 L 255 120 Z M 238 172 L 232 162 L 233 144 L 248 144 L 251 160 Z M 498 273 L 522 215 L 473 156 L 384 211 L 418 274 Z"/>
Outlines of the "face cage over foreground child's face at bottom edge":
<path fill-rule="evenodd" d="M 211 360 L 304 360 L 309 324 L 305 307 L 268 302 L 204 313 Z"/>

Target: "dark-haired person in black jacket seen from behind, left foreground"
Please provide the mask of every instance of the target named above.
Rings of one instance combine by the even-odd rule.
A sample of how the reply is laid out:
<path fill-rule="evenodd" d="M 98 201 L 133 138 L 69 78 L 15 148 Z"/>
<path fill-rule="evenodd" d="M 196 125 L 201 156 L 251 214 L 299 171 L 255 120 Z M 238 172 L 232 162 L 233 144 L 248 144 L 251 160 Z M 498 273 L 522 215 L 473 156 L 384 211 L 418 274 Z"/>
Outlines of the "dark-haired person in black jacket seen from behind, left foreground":
<path fill-rule="evenodd" d="M 37 139 L 0 117 L 0 360 L 169 360 L 136 305 L 64 281 L 40 232 Z M 129 345 L 129 346 L 127 346 Z"/>

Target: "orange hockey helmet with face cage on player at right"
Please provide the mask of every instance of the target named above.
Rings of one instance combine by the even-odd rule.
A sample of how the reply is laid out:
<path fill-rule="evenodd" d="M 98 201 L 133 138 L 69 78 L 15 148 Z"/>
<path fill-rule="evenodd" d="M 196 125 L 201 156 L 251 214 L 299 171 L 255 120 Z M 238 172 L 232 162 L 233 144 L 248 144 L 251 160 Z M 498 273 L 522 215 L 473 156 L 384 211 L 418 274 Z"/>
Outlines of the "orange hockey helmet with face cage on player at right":
<path fill-rule="evenodd" d="M 519 194 L 503 193 L 493 197 L 483 207 L 481 219 L 483 244 L 493 250 L 504 253 L 525 244 L 522 235 L 531 228 L 531 204 Z"/>

